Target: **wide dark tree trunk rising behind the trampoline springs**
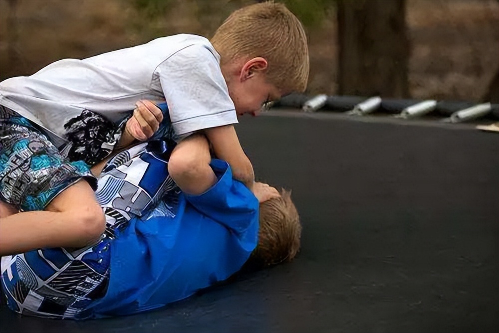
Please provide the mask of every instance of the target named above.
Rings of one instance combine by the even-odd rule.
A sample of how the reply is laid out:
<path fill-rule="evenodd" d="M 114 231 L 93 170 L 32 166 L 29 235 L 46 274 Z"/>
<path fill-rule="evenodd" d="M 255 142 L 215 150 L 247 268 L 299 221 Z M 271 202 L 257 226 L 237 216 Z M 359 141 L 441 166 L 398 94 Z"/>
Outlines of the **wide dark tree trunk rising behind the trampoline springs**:
<path fill-rule="evenodd" d="M 342 95 L 408 97 L 406 0 L 338 0 Z"/>

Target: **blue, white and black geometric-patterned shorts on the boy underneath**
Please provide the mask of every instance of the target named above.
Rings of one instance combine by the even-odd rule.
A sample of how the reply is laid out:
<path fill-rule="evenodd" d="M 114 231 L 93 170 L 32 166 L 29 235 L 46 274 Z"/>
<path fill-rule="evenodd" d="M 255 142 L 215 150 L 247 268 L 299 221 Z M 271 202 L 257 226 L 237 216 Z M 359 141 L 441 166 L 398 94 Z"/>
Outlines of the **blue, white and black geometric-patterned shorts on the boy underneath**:
<path fill-rule="evenodd" d="M 104 210 L 101 239 L 82 249 L 38 249 L 3 257 L 0 283 L 17 313 L 59 319 L 92 317 L 110 275 L 112 241 L 134 216 L 175 217 L 180 189 L 168 173 L 175 143 L 150 141 L 112 158 L 102 170 L 96 198 Z"/>

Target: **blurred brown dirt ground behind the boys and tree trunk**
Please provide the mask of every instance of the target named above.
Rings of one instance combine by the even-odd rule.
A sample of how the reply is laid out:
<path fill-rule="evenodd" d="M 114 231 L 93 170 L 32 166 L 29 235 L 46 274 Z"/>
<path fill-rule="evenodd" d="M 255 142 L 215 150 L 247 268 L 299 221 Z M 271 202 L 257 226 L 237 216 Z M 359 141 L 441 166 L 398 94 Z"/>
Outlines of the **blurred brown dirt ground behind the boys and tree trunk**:
<path fill-rule="evenodd" d="M 131 0 L 17 0 L 13 14 L 8 1 L 0 0 L 0 79 L 161 35 L 210 35 L 226 15 L 225 2 L 212 1 L 210 10 L 217 14 L 205 15 L 206 8 L 192 0 L 170 0 L 174 8 L 151 18 Z M 408 0 L 407 23 L 412 97 L 479 100 L 486 93 L 499 68 L 499 1 Z M 338 65 L 334 9 L 308 35 L 308 90 L 332 95 Z"/>

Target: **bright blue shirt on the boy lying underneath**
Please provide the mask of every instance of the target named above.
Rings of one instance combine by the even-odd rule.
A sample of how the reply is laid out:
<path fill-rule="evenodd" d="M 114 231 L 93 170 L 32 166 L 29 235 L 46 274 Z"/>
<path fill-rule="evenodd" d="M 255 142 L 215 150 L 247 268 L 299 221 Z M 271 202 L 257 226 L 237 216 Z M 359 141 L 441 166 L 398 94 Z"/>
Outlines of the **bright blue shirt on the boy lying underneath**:
<path fill-rule="evenodd" d="M 86 316 L 129 315 L 187 298 L 241 269 L 258 237 L 258 200 L 213 160 L 218 182 L 180 194 L 175 216 L 132 218 L 111 244 L 106 295 Z"/>

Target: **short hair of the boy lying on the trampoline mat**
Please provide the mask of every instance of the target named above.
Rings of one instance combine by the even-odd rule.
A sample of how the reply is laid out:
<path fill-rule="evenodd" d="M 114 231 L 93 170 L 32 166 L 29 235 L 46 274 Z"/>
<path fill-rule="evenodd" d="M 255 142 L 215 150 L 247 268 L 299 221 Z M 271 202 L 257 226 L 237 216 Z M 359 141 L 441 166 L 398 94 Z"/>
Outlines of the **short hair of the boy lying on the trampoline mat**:
<path fill-rule="evenodd" d="M 264 268 L 294 259 L 300 249 L 301 224 L 290 191 L 260 204 L 258 245 L 247 266 Z"/>

